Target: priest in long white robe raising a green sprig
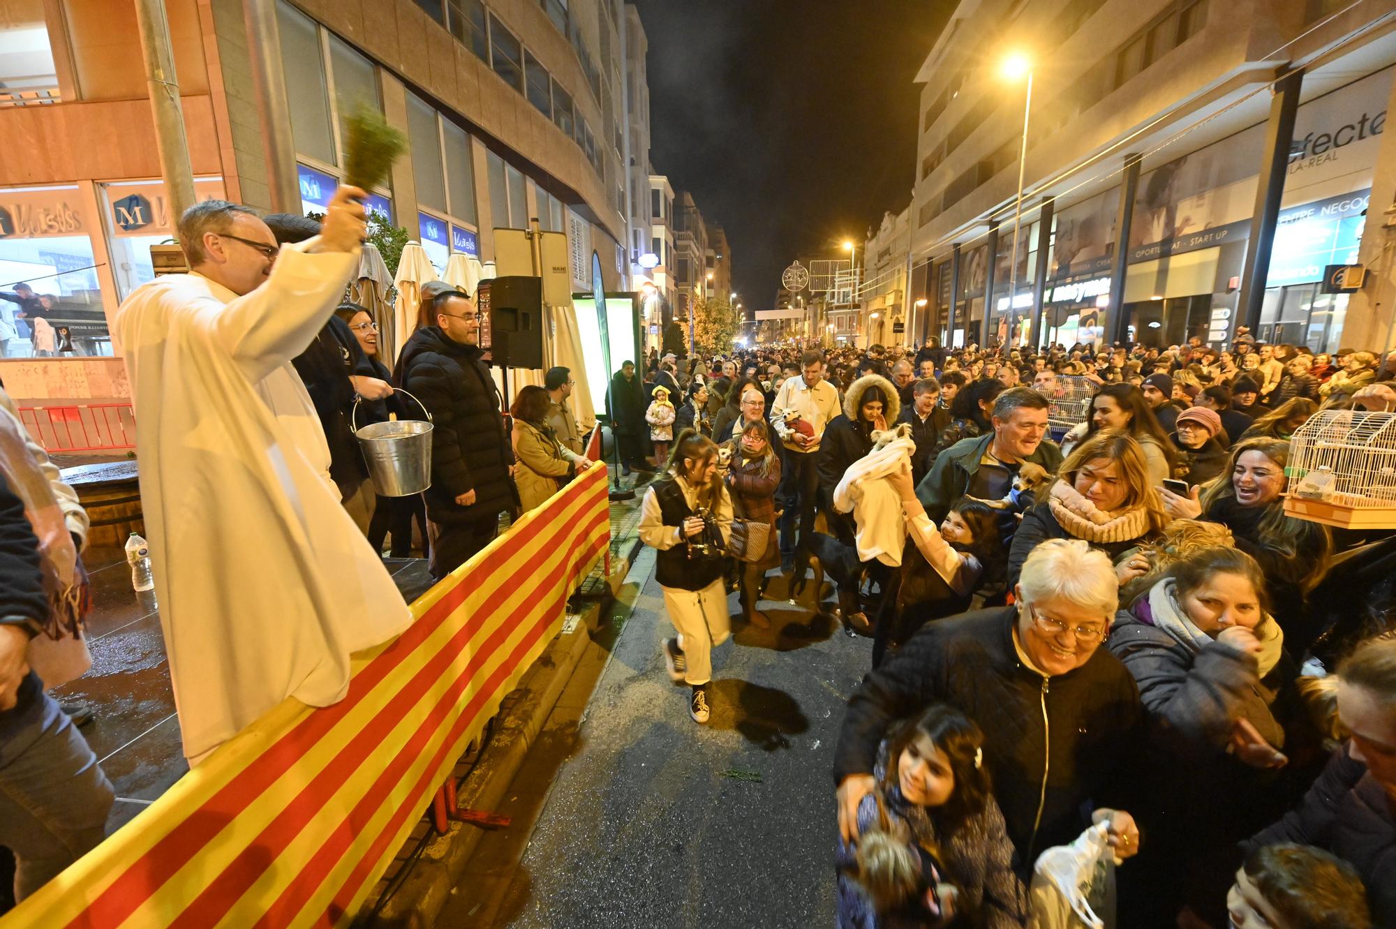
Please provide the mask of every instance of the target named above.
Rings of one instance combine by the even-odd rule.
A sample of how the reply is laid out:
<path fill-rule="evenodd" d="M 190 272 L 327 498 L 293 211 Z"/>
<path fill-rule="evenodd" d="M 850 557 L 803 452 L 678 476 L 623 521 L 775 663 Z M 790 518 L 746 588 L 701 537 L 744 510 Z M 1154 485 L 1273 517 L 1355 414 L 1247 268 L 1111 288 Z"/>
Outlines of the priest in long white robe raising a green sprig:
<path fill-rule="evenodd" d="M 191 273 L 116 312 L 135 405 L 141 501 L 184 755 L 198 763 L 292 696 L 342 699 L 349 654 L 410 624 L 339 505 L 320 420 L 292 367 L 334 312 L 364 236 L 357 188 L 285 246 L 205 201 L 179 239 Z"/>

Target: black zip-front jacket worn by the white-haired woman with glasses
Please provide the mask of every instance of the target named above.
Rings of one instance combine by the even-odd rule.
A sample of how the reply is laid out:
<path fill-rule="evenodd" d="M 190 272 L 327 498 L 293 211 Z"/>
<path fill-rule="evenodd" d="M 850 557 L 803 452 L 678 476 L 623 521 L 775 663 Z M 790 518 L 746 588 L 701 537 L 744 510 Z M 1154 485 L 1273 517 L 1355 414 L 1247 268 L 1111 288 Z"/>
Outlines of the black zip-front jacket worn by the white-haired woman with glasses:
<path fill-rule="evenodd" d="M 1030 866 L 1044 848 L 1076 838 L 1093 808 L 1115 805 L 1132 780 L 1122 769 L 1136 755 L 1142 711 L 1134 678 L 1103 646 L 1053 678 L 1025 665 L 1013 647 L 1016 619 L 1015 607 L 979 610 L 912 636 L 849 697 L 833 777 L 870 774 L 896 720 L 949 703 L 984 731 L 994 796 L 1019 863 Z"/>

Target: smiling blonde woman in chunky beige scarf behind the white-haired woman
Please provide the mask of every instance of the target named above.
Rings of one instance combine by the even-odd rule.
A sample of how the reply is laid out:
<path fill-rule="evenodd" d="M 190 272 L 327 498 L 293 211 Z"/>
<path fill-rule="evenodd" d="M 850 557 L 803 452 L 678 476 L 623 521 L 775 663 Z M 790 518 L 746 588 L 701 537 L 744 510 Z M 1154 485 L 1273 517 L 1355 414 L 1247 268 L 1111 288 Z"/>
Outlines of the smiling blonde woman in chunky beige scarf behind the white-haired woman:
<path fill-rule="evenodd" d="M 1104 430 L 1083 441 L 1057 471 L 1046 498 L 1023 515 L 1008 552 L 1008 583 L 1048 538 L 1081 538 L 1106 552 L 1120 584 L 1149 571 L 1141 543 L 1168 522 L 1143 449 L 1131 435 Z"/>

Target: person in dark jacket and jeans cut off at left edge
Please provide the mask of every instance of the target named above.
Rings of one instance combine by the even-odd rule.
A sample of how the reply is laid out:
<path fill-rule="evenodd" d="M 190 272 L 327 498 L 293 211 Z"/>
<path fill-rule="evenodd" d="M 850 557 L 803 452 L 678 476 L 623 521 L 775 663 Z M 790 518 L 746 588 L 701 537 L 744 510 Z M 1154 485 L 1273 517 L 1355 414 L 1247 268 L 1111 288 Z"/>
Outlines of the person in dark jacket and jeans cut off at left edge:
<path fill-rule="evenodd" d="M 0 477 L 0 845 L 24 900 L 106 836 L 114 792 L 96 756 L 28 665 L 49 618 L 39 540 Z"/>

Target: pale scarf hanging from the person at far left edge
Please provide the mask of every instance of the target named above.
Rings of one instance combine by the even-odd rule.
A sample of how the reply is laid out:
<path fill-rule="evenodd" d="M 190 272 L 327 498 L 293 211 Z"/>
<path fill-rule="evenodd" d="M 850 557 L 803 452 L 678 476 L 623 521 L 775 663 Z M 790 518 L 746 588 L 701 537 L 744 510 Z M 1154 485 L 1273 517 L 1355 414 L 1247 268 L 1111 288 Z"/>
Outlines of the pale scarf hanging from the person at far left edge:
<path fill-rule="evenodd" d="M 49 478 L 29 453 L 24 424 L 0 410 L 0 474 L 24 501 L 24 515 L 39 538 L 43 590 L 49 615 L 43 632 L 29 643 L 29 664 L 46 688 L 82 675 L 92 664 L 82 635 L 82 618 L 92 607 L 87 572 L 68 534 Z"/>

